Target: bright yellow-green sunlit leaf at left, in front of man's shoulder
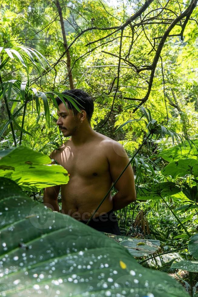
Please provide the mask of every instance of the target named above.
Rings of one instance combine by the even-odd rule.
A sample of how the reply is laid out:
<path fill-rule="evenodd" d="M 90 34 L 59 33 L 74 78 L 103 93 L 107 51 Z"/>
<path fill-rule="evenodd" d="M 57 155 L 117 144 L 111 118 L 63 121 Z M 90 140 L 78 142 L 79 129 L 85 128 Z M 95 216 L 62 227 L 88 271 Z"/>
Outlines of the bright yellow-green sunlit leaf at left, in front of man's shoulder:
<path fill-rule="evenodd" d="M 25 190 L 38 191 L 67 184 L 68 172 L 61 165 L 51 165 L 44 154 L 25 147 L 0 152 L 0 177 L 12 179 Z"/>

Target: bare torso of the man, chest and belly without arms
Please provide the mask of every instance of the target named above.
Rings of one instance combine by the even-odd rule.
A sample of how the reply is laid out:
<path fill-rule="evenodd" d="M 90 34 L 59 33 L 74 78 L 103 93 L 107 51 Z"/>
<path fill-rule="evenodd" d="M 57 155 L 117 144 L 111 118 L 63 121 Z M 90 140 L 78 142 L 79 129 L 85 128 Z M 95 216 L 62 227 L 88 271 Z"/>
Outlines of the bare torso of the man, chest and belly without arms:
<path fill-rule="evenodd" d="M 68 184 L 61 185 L 63 213 L 78 220 L 88 219 L 110 189 L 112 179 L 105 145 L 109 141 L 110 138 L 96 133 L 88 143 L 74 146 L 68 140 L 55 151 L 54 159 L 70 174 Z M 112 208 L 110 193 L 94 217 Z"/>

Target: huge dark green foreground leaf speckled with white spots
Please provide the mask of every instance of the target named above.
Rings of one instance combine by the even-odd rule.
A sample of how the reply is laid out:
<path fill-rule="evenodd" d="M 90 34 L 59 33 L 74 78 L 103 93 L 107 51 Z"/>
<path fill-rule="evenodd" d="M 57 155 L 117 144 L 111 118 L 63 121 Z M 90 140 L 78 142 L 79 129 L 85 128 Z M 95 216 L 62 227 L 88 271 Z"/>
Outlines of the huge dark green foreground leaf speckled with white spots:
<path fill-rule="evenodd" d="M 15 194 L 0 200 L 2 296 L 188 296 L 101 232 Z"/>

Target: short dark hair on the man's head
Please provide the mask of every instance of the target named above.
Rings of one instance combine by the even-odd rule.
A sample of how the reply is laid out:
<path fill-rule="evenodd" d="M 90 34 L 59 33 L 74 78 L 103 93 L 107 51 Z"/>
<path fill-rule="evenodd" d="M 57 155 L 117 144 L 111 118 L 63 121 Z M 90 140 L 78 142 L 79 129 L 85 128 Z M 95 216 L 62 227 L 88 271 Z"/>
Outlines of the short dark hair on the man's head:
<path fill-rule="evenodd" d="M 88 95 L 86 92 L 84 92 L 83 90 L 80 90 L 80 89 L 65 90 L 64 92 L 62 92 L 62 94 L 68 95 L 68 96 L 74 98 L 80 104 L 79 105 L 75 101 L 78 108 L 80 110 L 86 111 L 88 122 L 91 121 L 91 117 L 94 112 L 94 101 L 90 95 Z M 74 106 L 69 102 L 69 100 L 67 98 L 64 98 L 64 100 L 65 100 L 65 102 L 68 103 L 68 108 L 71 109 L 74 112 L 74 114 L 77 114 L 78 113 L 77 109 L 74 108 Z M 62 101 L 59 97 L 56 98 L 56 102 L 58 105 L 60 105 L 62 103 Z"/>

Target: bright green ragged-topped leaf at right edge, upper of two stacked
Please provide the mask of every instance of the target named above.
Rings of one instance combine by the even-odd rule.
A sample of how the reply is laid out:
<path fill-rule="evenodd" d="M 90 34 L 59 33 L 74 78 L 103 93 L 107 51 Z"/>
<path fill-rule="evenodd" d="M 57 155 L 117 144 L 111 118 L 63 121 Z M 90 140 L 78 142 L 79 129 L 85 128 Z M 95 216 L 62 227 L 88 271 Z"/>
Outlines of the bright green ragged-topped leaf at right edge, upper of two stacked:
<path fill-rule="evenodd" d="M 198 139 L 193 140 L 192 146 L 190 147 L 187 141 L 185 143 L 185 148 L 179 145 L 175 145 L 170 149 L 164 149 L 159 153 L 159 156 L 168 162 L 178 161 L 179 159 L 198 159 Z"/>

